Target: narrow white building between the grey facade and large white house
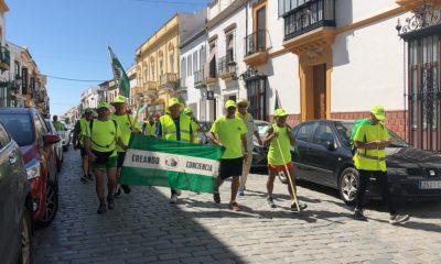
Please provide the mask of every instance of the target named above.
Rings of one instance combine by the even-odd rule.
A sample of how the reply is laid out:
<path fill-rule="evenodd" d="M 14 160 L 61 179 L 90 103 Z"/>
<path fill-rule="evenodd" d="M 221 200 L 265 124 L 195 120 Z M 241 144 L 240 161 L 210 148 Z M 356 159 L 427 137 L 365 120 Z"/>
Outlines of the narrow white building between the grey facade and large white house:
<path fill-rule="evenodd" d="M 204 66 L 205 85 L 201 109 L 207 120 L 224 113 L 227 100 L 246 97 L 245 82 L 239 78 L 247 67 L 244 58 L 247 1 L 213 0 L 208 4 L 207 61 Z"/>

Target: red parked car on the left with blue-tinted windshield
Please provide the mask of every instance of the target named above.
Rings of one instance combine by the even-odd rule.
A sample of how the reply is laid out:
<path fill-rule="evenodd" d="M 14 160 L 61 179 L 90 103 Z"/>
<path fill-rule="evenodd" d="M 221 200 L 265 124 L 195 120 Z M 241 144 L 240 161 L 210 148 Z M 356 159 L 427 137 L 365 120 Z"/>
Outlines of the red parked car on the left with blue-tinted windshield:
<path fill-rule="evenodd" d="M 0 109 L 0 122 L 20 146 L 31 184 L 33 217 L 40 227 L 46 227 L 58 209 L 56 153 L 52 145 L 60 138 L 51 134 L 34 108 Z"/>

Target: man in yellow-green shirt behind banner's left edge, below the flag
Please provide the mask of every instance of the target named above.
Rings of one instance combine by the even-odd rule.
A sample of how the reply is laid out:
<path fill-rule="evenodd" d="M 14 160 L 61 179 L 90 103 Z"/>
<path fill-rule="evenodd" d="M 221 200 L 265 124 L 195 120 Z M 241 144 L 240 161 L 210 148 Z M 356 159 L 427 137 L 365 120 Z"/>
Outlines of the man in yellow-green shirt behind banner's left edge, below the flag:
<path fill-rule="evenodd" d="M 131 133 L 141 133 L 141 127 L 135 121 L 135 118 L 127 111 L 126 98 L 123 96 L 117 96 L 112 102 L 115 107 L 115 113 L 110 116 L 111 120 L 115 120 L 118 124 L 119 132 L 121 134 L 121 140 L 125 145 L 129 144 Z M 123 160 L 126 158 L 126 151 L 117 145 L 118 162 L 117 162 L 117 182 L 119 182 L 119 176 L 121 174 L 121 168 Z M 121 188 L 126 194 L 130 194 L 131 189 L 128 185 L 121 185 Z M 115 191 L 115 197 L 121 195 L 121 189 L 119 185 Z"/>

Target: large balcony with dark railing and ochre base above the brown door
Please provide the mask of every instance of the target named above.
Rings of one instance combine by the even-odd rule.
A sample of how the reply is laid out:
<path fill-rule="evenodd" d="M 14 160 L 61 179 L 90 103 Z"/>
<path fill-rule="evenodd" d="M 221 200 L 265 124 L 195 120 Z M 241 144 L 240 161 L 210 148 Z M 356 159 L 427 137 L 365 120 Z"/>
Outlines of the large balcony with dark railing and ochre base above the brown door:
<path fill-rule="evenodd" d="M 283 46 L 295 54 L 329 46 L 334 42 L 335 0 L 293 1 L 283 19 Z"/>

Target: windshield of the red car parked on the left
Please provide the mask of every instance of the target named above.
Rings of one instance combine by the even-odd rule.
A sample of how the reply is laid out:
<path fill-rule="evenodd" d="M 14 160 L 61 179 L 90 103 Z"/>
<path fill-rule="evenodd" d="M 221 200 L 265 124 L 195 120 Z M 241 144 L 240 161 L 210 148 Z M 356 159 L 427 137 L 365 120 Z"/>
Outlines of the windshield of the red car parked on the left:
<path fill-rule="evenodd" d="M 0 113 L 0 121 L 20 146 L 34 142 L 31 119 L 28 114 Z"/>

